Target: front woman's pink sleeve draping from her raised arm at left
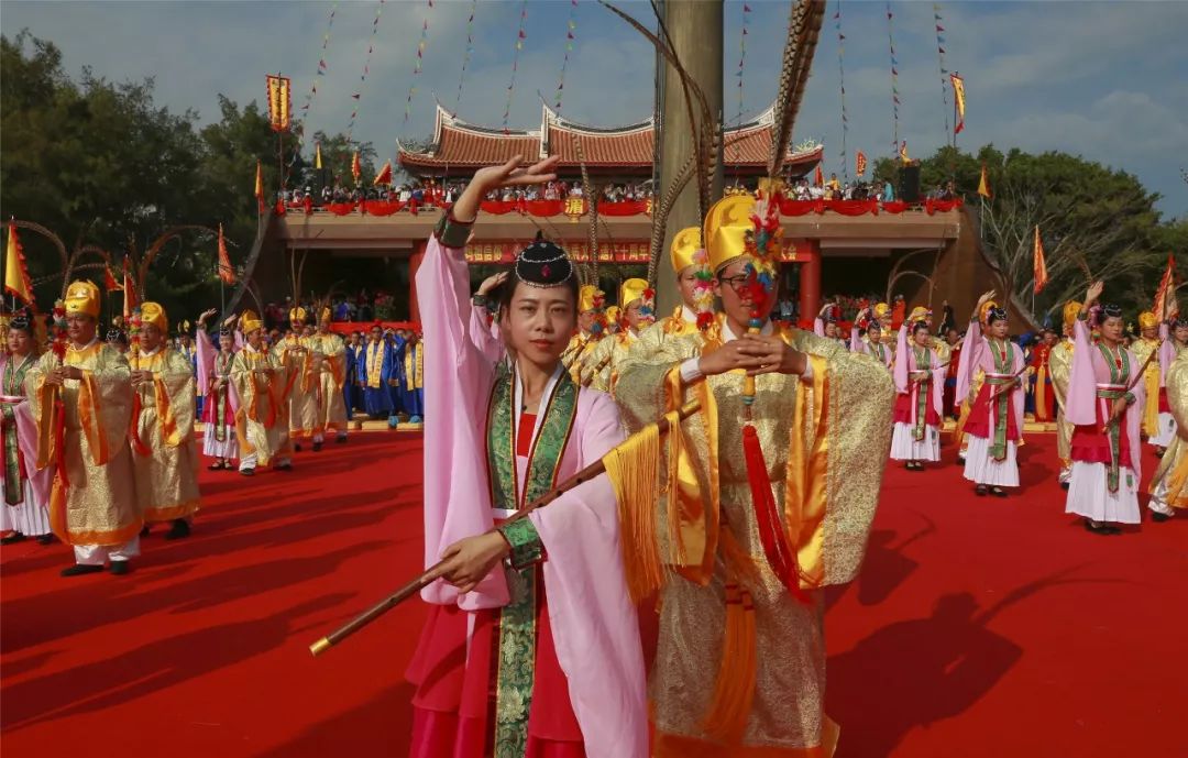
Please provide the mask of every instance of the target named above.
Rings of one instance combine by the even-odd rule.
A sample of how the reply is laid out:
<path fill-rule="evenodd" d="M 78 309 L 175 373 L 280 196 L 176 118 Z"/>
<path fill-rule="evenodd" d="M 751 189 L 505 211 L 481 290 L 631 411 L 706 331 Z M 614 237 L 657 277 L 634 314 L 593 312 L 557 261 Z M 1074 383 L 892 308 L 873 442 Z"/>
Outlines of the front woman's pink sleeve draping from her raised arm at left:
<path fill-rule="evenodd" d="M 425 568 L 459 539 L 494 526 L 484 440 L 494 366 L 468 335 L 469 290 L 462 251 L 430 238 L 417 271 L 424 342 L 434 346 L 425 350 L 423 369 L 425 416 L 435 419 L 424 430 Z M 440 605 L 457 602 L 467 611 L 508 601 L 503 571 L 492 571 L 466 595 L 437 581 L 421 596 Z"/>

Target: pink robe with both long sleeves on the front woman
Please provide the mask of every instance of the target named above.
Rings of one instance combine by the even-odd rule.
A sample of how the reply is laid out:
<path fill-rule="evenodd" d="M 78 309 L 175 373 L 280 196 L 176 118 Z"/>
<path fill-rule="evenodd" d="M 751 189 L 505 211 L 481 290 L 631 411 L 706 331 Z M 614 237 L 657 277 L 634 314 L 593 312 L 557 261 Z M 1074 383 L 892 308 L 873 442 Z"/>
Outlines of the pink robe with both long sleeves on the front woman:
<path fill-rule="evenodd" d="M 486 466 L 486 419 L 498 361 L 479 348 L 469 309 L 469 271 L 460 248 L 430 239 L 417 272 L 425 342 L 425 567 L 450 544 L 494 525 Z M 519 408 L 519 404 L 516 404 Z M 514 419 L 518 425 L 518 417 Z M 614 403 L 581 390 L 557 480 L 577 473 L 623 440 Z M 524 463 L 517 457 L 523 474 Z M 524 476 L 518 476 L 523 482 Z M 646 758 L 647 705 L 636 607 L 619 552 L 614 492 L 605 476 L 530 516 L 548 552 L 542 566 L 557 659 L 589 758 Z M 503 570 L 460 595 L 437 581 L 426 602 L 463 611 L 508 602 Z"/>

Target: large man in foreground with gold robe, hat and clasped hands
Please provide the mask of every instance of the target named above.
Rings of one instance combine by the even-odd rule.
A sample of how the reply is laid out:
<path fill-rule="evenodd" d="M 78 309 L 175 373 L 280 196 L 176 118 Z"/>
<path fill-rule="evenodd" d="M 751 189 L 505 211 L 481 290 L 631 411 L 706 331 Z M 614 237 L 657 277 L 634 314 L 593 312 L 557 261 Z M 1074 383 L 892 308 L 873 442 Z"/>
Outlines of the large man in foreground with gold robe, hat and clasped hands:
<path fill-rule="evenodd" d="M 828 756 L 836 740 L 821 588 L 861 563 L 895 387 L 877 361 L 770 321 L 776 228 L 748 196 L 710 209 L 725 314 L 630 355 L 615 390 L 632 430 L 701 404 L 668 437 L 655 505 L 620 529 L 633 595 L 659 589 L 657 758 Z"/>

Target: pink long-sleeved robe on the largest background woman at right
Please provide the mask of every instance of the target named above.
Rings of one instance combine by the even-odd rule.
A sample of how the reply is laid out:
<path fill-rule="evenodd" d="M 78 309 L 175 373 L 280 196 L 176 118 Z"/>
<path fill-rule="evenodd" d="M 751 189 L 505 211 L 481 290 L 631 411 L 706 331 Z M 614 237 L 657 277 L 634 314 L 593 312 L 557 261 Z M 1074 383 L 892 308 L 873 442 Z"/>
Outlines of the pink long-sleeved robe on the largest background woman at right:
<path fill-rule="evenodd" d="M 1089 339 L 1088 327 L 1085 321 L 1078 318 L 1073 326 L 1073 366 L 1068 375 L 1068 394 L 1064 405 L 1064 419 L 1074 424 L 1073 430 L 1073 460 L 1081 460 L 1078 448 L 1085 449 L 1087 437 L 1094 435 L 1104 437 L 1100 424 L 1104 421 L 1099 415 L 1099 404 L 1106 403 L 1098 398 L 1098 385 L 1110 385 L 1110 366 L 1106 364 L 1101 350 L 1093 345 Z M 1139 441 L 1139 425 L 1143 421 L 1143 403 L 1146 399 L 1146 390 L 1142 380 L 1135 381 L 1142 362 L 1135 358 L 1135 353 L 1126 350 L 1130 356 L 1130 378 L 1127 386 L 1130 393 L 1135 396 L 1135 402 L 1126 409 L 1123 416 L 1125 425 L 1126 442 L 1129 447 L 1130 461 L 1126 463 L 1135 472 L 1136 479 L 1142 475 L 1142 455 Z M 1132 386 L 1131 386 L 1132 385 Z M 1108 418 L 1108 416 L 1105 416 Z M 1100 447 L 1100 446 L 1094 446 Z M 1089 461 L 1101 462 L 1101 461 Z"/>

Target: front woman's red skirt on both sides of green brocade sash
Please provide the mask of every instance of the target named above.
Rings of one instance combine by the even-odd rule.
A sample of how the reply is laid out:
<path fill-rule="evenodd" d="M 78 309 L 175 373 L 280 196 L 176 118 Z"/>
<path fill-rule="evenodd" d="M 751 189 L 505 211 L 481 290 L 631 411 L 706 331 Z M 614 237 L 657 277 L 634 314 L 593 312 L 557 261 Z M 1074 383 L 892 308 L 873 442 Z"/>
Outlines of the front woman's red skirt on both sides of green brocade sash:
<path fill-rule="evenodd" d="M 474 636 L 467 655 L 467 618 Z M 460 611 L 435 605 L 406 676 L 412 697 L 410 758 L 482 758 L 492 752 L 495 703 L 493 664 L 499 640 L 498 608 Z M 525 758 L 584 758 L 586 747 L 569 700 L 569 682 L 552 644 L 544 581 L 537 571 L 536 670 L 527 719 Z"/>

